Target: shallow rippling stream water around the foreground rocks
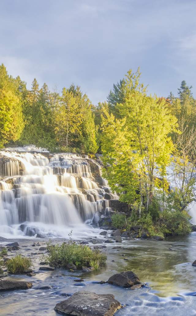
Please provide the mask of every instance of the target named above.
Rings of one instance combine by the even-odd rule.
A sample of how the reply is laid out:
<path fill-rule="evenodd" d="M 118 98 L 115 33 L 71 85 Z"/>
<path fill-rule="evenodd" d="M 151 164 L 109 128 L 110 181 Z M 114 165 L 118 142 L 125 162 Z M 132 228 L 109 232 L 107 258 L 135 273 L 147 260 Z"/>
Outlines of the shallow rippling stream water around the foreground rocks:
<path fill-rule="evenodd" d="M 36 242 L 38 240 L 36 239 Z M 39 241 L 41 246 L 45 245 L 45 240 Z M 56 243 L 62 240 L 52 241 Z M 34 258 L 34 270 L 38 271 L 41 254 L 31 254 L 39 251 L 39 247 L 33 247 L 33 250 L 32 247 L 29 248 L 32 243 L 33 240 L 19 240 L 20 252 Z M 31 281 L 33 287 L 29 290 L 2 292 L 0 315 L 57 315 L 54 307 L 57 302 L 66 299 L 63 295 L 80 290 L 115 295 L 115 298 L 125 305 L 116 316 L 196 315 L 196 267 L 191 265 L 196 259 L 195 247 L 196 233 L 166 241 L 123 241 L 122 244 L 107 244 L 107 248 L 101 249 L 108 259 L 106 266 L 98 271 L 71 273 L 56 269 L 52 272 L 41 271 L 35 277 L 11 276 Z M 147 286 L 131 290 L 96 283 L 123 270 L 133 270 Z M 84 282 L 74 282 L 76 277 L 82 277 Z M 37 286 L 43 285 L 51 285 L 52 289 L 36 289 Z"/>

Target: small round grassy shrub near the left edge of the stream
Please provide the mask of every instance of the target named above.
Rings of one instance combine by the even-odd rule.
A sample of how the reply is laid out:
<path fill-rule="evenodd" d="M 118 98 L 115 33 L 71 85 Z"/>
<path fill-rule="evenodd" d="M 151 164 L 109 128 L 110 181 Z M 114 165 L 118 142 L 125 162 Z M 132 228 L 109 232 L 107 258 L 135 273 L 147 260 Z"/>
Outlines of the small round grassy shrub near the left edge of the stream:
<path fill-rule="evenodd" d="M 23 273 L 25 270 L 28 270 L 32 266 L 31 259 L 22 257 L 18 255 L 14 258 L 9 259 L 6 261 L 6 266 L 10 273 Z"/>

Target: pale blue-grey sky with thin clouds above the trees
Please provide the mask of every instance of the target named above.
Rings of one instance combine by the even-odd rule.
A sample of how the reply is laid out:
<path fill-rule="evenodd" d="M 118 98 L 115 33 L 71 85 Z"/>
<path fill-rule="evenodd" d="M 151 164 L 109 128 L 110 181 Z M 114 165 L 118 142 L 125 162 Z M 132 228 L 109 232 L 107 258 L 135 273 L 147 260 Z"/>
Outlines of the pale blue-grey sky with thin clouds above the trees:
<path fill-rule="evenodd" d="M 31 87 L 74 83 L 97 104 L 140 66 L 148 93 L 196 96 L 195 0 L 0 0 L 0 64 Z"/>

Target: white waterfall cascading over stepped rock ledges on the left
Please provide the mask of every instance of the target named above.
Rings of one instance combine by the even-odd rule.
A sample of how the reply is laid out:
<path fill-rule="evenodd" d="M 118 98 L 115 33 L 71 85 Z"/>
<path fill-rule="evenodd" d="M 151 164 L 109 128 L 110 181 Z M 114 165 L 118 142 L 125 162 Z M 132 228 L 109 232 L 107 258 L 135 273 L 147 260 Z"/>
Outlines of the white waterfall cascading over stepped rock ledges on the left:
<path fill-rule="evenodd" d="M 1 151 L 0 176 L 0 235 L 8 238 L 84 233 L 95 212 L 110 214 L 106 192 L 117 198 L 88 156 Z"/>

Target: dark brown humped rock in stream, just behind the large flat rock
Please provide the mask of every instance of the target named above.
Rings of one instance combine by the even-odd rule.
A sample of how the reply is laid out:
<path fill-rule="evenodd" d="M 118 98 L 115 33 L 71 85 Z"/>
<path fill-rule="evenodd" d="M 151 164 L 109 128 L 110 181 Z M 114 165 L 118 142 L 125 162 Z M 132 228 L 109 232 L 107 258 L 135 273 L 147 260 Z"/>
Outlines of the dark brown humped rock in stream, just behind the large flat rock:
<path fill-rule="evenodd" d="M 108 280 L 109 284 L 122 286 L 124 288 L 131 288 L 134 284 L 140 284 L 139 277 L 132 271 L 123 271 L 110 276 Z"/>

